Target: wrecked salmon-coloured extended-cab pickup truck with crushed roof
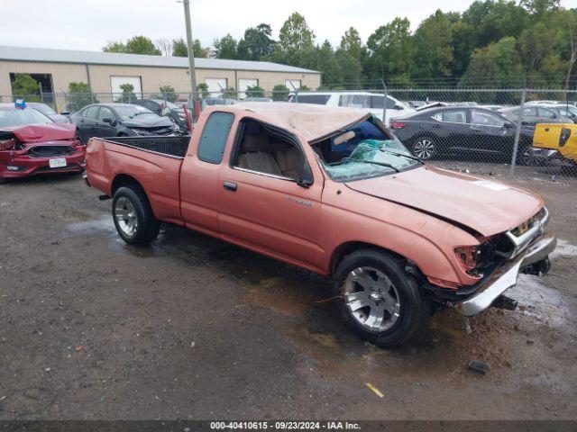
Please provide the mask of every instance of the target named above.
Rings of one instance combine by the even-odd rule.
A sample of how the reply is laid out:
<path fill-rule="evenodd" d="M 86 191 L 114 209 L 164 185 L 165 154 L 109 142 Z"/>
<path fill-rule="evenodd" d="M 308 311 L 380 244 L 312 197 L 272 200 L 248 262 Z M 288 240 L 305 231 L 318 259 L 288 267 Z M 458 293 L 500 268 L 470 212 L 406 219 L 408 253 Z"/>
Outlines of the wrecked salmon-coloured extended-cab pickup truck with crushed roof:
<path fill-rule="evenodd" d="M 332 276 L 343 320 L 381 347 L 444 308 L 514 309 L 503 293 L 556 245 L 536 193 L 426 165 L 347 108 L 219 105 L 189 143 L 91 139 L 87 183 L 128 244 L 163 221 Z"/>

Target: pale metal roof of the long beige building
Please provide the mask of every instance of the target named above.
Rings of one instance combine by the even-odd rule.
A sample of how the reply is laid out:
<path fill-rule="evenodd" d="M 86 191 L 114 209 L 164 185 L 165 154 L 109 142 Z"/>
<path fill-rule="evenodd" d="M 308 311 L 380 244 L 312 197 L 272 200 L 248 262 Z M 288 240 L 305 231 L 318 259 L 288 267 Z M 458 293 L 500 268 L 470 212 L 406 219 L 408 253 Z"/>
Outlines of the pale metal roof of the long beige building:
<path fill-rule="evenodd" d="M 188 58 L 186 57 L 143 56 L 140 54 L 11 47 L 7 45 L 0 45 L 0 60 L 42 63 L 80 63 L 83 65 L 183 67 L 188 69 Z M 303 74 L 320 73 L 316 70 L 281 65 L 279 63 L 271 63 L 270 61 L 228 60 L 222 58 L 195 58 L 195 67 L 198 69 L 255 70 L 261 72 L 295 72 Z"/>

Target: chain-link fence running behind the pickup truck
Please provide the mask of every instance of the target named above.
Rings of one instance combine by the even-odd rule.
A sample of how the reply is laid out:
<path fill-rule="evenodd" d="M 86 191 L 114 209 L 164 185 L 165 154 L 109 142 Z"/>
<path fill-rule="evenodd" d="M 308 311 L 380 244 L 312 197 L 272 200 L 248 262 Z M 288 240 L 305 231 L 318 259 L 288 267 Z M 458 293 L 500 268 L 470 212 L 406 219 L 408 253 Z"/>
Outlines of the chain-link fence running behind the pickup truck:
<path fill-rule="evenodd" d="M 194 111 L 190 92 L 23 95 L 57 112 L 91 103 L 138 103 Z M 577 90 L 407 89 L 299 92 L 221 89 L 197 94 L 200 109 L 248 101 L 316 103 L 371 112 L 417 157 L 474 174 L 577 181 Z M 14 100 L 0 95 L 0 103 Z M 156 108 L 155 108 L 156 107 Z"/>

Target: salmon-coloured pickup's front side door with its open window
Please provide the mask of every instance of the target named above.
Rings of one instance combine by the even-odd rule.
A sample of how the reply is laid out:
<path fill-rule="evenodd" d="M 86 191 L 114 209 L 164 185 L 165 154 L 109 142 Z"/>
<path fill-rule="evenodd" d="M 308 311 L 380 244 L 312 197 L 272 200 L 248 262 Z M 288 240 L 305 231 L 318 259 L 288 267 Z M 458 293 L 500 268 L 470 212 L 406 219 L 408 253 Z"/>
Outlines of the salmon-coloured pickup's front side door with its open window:
<path fill-rule="evenodd" d="M 313 178 L 297 137 L 253 119 L 239 123 L 220 175 L 218 225 L 225 239 L 318 267 L 323 178 Z M 311 184 L 298 184 L 308 179 Z"/>

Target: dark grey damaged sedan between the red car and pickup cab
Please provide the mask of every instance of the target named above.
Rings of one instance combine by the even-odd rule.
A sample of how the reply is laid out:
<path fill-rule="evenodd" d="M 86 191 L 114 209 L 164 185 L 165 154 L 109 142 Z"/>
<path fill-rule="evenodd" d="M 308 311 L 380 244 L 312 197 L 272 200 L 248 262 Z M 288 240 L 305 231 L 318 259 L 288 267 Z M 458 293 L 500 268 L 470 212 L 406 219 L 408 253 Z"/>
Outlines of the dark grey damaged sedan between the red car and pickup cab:
<path fill-rule="evenodd" d="M 167 117 L 132 103 L 95 103 L 70 116 L 78 139 L 92 137 L 133 137 L 139 135 L 179 135 L 179 126 Z"/>

